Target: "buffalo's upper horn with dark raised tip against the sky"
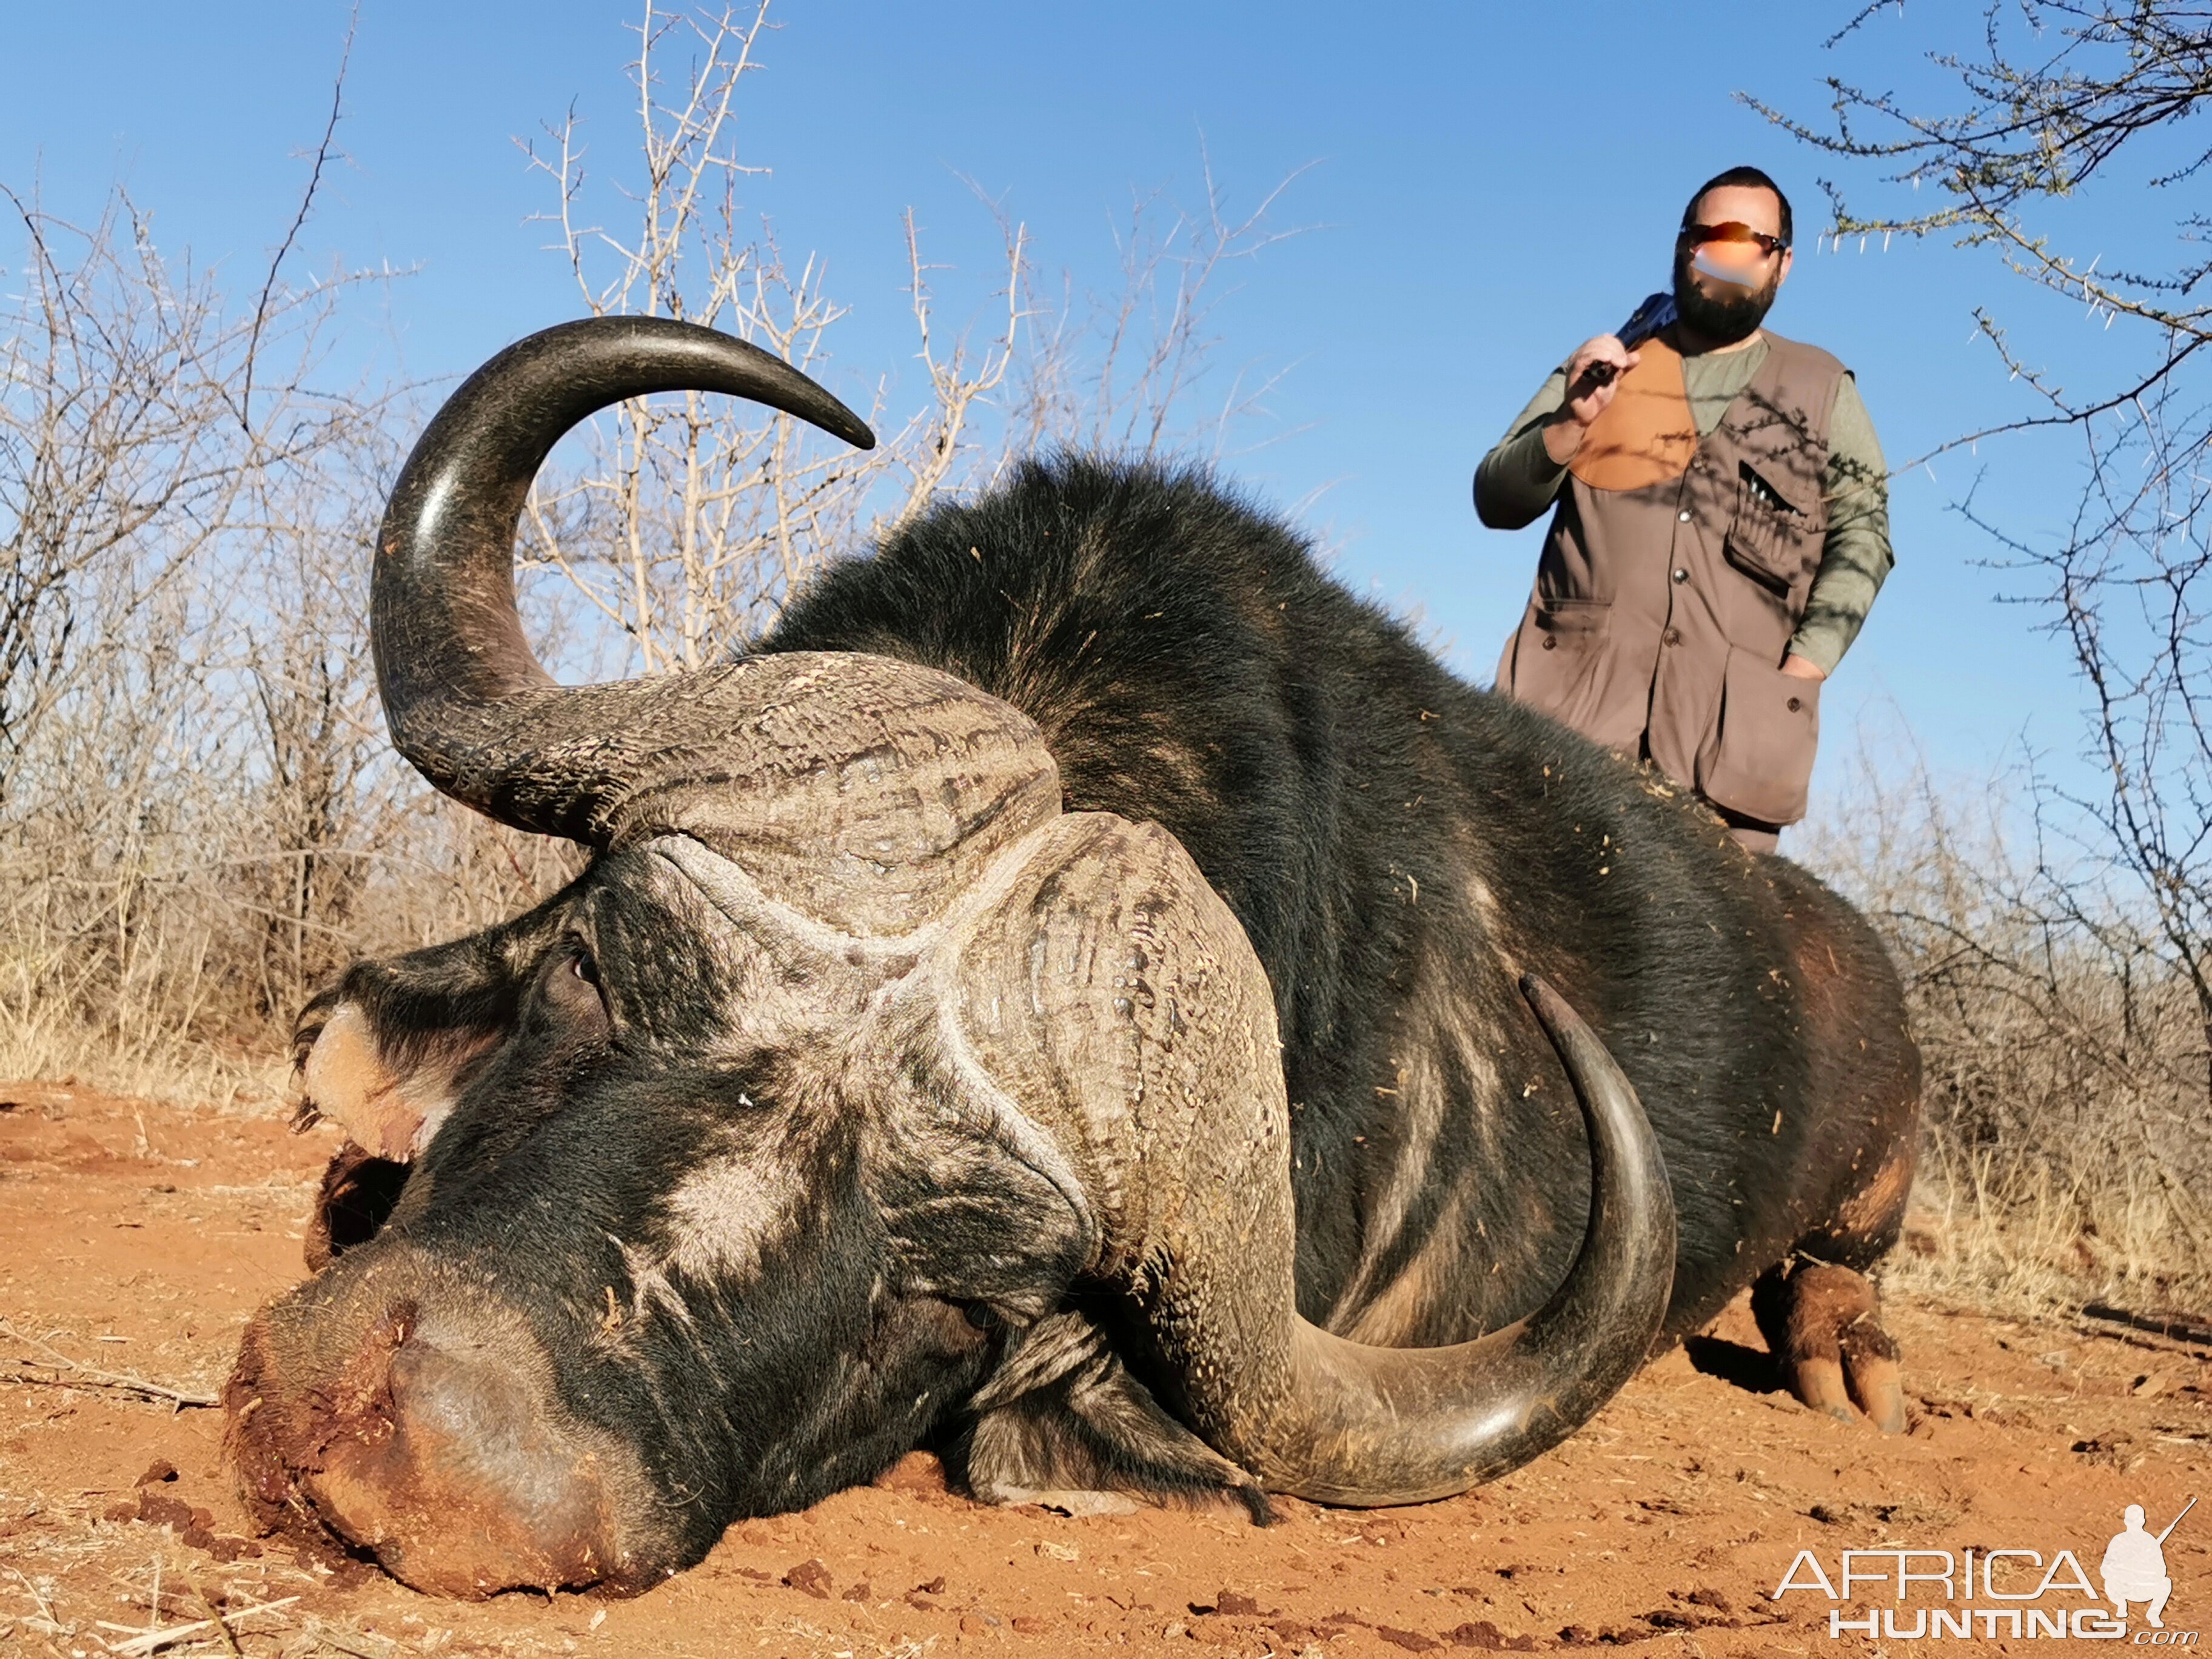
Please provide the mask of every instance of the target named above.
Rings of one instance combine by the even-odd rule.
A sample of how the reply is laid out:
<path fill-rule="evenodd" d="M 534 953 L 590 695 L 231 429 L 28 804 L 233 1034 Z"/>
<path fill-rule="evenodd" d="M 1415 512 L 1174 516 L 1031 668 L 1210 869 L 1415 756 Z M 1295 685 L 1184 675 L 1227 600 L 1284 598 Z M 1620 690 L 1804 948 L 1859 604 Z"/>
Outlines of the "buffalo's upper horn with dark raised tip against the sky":
<path fill-rule="evenodd" d="M 799 369 L 690 323 L 599 316 L 507 347 L 431 420 L 378 531 L 369 644 L 394 743 L 520 830 L 593 847 L 699 834 L 821 920 L 905 931 L 971 854 L 1057 812 L 1057 772 L 1018 710 L 847 653 L 555 686 L 522 635 L 513 544 L 538 467 L 597 409 L 684 389 L 876 442 Z"/>

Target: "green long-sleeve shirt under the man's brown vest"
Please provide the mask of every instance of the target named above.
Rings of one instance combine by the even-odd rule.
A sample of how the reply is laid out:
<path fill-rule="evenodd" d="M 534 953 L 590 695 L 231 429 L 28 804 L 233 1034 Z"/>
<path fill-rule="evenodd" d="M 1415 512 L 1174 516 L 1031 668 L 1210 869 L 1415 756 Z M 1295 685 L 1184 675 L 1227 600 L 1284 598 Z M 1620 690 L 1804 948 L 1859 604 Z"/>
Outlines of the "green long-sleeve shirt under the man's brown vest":
<path fill-rule="evenodd" d="M 1701 352 L 1681 361 L 1699 438 L 1721 425 L 1728 405 L 1765 361 L 1763 338 L 1741 352 Z M 1506 427 L 1506 436 L 1475 467 L 1475 513 L 1491 529 L 1517 531 L 1522 524 L 1533 524 L 1559 498 L 1566 467 L 1544 449 L 1544 422 L 1562 403 L 1566 403 L 1564 365 L 1551 372 L 1528 407 Z M 1827 416 L 1823 493 L 1827 540 L 1820 544 L 1820 568 L 1812 580 L 1790 650 L 1823 672 L 1834 672 L 1896 564 L 1889 546 L 1889 467 L 1867 405 L 1858 398 L 1858 383 L 1849 374 L 1836 383 L 1836 403 Z M 1573 511 L 1573 502 L 1566 511 Z"/>

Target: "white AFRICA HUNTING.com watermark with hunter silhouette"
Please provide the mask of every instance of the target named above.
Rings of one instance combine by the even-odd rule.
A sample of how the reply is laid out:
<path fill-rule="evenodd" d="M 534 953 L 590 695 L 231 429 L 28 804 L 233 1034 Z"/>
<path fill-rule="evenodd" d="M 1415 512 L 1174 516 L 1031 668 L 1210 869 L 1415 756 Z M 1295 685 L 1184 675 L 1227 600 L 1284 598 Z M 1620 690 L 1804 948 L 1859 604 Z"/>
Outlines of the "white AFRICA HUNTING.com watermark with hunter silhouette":
<path fill-rule="evenodd" d="M 2097 1582 L 2073 1551 L 2046 1557 L 2031 1548 L 1843 1551 L 1829 1566 L 1814 1551 L 1798 1551 L 1774 1586 L 1787 1595 L 1825 1595 L 1829 1637 L 1860 1635 L 1882 1641 L 1971 1637 L 2013 1641 L 2066 1637 L 2132 1641 L 2139 1648 L 2194 1648 L 2197 1630 L 2170 1630 L 2166 1604 L 2174 1582 L 2166 1573 L 2166 1540 L 2181 1513 L 2152 1533 L 2141 1504 L 2128 1504 L 2121 1528 L 2097 1559 Z M 2141 1619 L 2137 1624 L 2135 1619 Z"/>

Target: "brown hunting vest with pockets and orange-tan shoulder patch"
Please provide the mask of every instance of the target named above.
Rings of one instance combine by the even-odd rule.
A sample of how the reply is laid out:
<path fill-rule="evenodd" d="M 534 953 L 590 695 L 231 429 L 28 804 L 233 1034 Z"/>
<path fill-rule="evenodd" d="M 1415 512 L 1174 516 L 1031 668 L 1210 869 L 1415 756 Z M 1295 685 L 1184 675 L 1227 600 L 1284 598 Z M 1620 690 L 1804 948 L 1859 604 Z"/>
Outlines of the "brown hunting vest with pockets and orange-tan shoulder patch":
<path fill-rule="evenodd" d="M 1796 823 L 1820 681 L 1781 661 L 1820 568 L 1827 416 L 1847 369 L 1767 334 L 1767 361 L 1697 438 L 1679 431 L 1681 358 L 1659 345 L 1584 438 L 1593 462 L 1577 453 L 1564 482 L 1498 688 L 1745 818 Z M 1652 420 L 1668 389 L 1679 414 Z"/>

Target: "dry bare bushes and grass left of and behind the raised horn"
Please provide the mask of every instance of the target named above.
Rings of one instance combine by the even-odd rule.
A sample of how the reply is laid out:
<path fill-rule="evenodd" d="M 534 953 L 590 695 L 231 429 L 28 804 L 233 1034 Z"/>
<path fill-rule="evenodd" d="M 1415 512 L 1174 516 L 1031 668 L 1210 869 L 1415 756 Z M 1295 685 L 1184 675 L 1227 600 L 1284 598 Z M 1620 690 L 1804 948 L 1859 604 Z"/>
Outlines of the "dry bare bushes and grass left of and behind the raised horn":
<path fill-rule="evenodd" d="M 648 4 L 637 177 L 586 179 L 568 128 L 533 159 L 584 310 L 706 321 L 805 367 L 843 310 L 734 195 L 763 20 Z M 374 376 L 330 387 L 343 272 L 230 294 L 170 268 L 122 195 L 88 223 L 4 199 L 31 254 L 0 299 L 0 1075 L 270 1104 L 294 1009 L 349 958 L 511 916 L 577 854 L 445 803 L 389 750 L 369 546 L 427 409 Z M 608 411 L 524 518 L 540 655 L 577 679 L 697 668 L 1018 451 L 1219 436 L 1250 389 L 1194 409 L 1206 290 L 1272 241 L 1263 215 L 1225 217 L 1210 177 L 1192 215 L 1141 199 L 1126 292 L 1086 312 L 1046 303 L 1026 230 L 993 217 L 982 338 L 947 325 L 931 283 L 956 279 L 909 221 L 927 374 L 909 407 L 878 387 L 878 447 L 699 396 Z"/>

